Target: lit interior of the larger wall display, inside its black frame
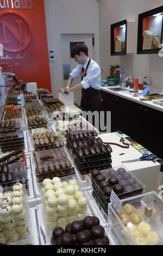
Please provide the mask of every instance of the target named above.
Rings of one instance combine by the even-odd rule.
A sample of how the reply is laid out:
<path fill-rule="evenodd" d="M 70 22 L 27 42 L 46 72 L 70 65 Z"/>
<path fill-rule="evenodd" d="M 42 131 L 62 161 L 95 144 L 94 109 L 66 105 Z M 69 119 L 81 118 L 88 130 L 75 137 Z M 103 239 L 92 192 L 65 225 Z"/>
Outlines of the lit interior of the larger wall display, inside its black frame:
<path fill-rule="evenodd" d="M 143 19 L 142 50 L 158 49 L 161 44 L 162 15 L 158 13 Z"/>

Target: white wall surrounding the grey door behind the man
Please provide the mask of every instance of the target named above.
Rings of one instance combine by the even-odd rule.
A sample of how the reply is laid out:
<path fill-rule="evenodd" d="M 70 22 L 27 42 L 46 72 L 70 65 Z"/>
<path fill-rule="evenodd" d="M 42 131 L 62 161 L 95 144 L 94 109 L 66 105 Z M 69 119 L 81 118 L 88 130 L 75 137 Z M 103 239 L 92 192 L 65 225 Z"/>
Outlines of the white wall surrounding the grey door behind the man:
<path fill-rule="evenodd" d="M 44 0 L 48 49 L 54 49 L 50 62 L 52 93 L 58 96 L 62 84 L 61 34 L 95 34 L 95 61 L 99 63 L 98 0 Z M 46 86 L 45 86 L 46 87 Z"/>

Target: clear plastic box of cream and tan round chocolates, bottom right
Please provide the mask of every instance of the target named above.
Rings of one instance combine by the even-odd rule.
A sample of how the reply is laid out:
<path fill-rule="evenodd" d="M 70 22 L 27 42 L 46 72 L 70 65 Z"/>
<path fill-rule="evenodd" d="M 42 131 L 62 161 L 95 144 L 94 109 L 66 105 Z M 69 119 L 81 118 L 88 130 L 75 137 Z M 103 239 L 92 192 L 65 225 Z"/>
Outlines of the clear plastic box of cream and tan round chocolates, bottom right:
<path fill-rule="evenodd" d="M 162 245 L 162 205 L 155 191 L 123 199 L 120 214 L 109 204 L 109 232 L 116 245 Z"/>

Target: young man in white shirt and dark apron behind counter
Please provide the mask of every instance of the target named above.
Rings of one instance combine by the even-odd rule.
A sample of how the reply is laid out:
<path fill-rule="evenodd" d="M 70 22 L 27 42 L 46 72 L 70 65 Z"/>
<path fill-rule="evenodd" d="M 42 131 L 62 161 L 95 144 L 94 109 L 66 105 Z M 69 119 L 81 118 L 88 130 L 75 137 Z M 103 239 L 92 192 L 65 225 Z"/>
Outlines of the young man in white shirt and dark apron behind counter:
<path fill-rule="evenodd" d="M 85 111 L 99 111 L 101 103 L 100 82 L 101 68 L 99 65 L 89 58 L 88 48 L 85 44 L 77 44 L 72 48 L 71 57 L 77 62 L 76 68 L 70 73 L 66 89 L 60 88 L 59 93 L 68 94 L 82 89 L 82 100 L 80 107 Z M 76 86 L 70 88 L 75 78 L 82 77 L 82 81 Z"/>

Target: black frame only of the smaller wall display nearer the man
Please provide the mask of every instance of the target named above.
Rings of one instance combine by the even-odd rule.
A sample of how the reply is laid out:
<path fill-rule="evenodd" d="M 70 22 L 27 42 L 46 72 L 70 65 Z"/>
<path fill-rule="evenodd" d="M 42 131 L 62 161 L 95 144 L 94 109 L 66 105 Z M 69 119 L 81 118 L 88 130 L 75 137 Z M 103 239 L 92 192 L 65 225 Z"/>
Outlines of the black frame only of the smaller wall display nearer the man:
<path fill-rule="evenodd" d="M 125 35 L 125 51 L 123 52 L 115 52 L 114 49 L 114 29 L 116 27 L 122 26 L 122 25 L 126 25 L 126 35 Z M 118 56 L 118 55 L 126 55 L 127 53 L 127 20 L 123 20 L 114 24 L 110 25 L 110 32 L 111 32 L 111 36 L 110 36 L 110 52 L 111 52 L 111 56 Z"/>

